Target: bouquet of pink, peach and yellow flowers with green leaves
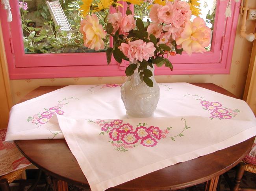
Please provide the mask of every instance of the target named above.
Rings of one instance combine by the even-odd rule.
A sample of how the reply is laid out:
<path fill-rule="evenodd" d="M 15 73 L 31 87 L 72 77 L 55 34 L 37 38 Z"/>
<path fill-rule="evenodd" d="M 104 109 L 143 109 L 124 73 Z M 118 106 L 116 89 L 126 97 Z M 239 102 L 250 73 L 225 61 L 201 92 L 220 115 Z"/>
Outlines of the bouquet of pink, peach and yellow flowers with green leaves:
<path fill-rule="evenodd" d="M 165 65 L 173 70 L 169 56 L 182 54 L 186 51 L 203 53 L 210 44 L 211 30 L 198 15 L 198 0 L 154 0 L 148 6 L 149 19 L 147 23 L 135 18 L 130 5 L 140 5 L 143 0 L 124 0 L 127 3 L 126 14 L 119 10 L 121 0 L 82 0 L 81 10 L 84 19 L 80 31 L 83 34 L 84 45 L 96 51 L 104 49 L 104 39 L 107 35 L 113 37 L 113 46 L 106 51 L 107 62 L 111 57 L 119 63 L 127 60 L 130 65 L 126 68 L 126 76 L 138 70 L 142 82 L 152 87 L 148 69 L 153 64 L 158 67 Z M 110 7 L 115 13 L 109 13 Z M 191 21 L 191 15 L 197 17 Z M 101 21 L 101 24 L 100 24 Z"/>

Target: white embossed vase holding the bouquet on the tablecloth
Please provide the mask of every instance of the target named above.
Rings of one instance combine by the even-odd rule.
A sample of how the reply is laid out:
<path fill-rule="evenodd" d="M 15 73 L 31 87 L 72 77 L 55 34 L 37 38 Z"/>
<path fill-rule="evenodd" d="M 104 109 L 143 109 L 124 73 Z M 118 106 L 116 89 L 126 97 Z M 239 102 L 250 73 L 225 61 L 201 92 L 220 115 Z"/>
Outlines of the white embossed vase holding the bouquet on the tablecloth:
<path fill-rule="evenodd" d="M 143 118 L 154 115 L 159 100 L 159 86 L 154 78 L 154 67 L 148 67 L 153 73 L 150 79 L 153 87 L 148 87 L 139 78 L 137 69 L 132 76 L 128 76 L 121 87 L 121 98 L 124 102 L 128 118 Z"/>

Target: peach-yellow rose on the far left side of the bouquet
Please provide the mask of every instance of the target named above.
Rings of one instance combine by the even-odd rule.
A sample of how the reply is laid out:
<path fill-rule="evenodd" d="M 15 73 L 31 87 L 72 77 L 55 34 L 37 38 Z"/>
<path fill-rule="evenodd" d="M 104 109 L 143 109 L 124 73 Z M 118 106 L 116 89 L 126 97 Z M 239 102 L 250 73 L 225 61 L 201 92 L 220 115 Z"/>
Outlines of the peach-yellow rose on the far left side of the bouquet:
<path fill-rule="evenodd" d="M 103 30 L 99 20 L 95 14 L 92 16 L 86 15 L 85 19 L 81 21 L 80 32 L 83 34 L 84 46 L 95 49 L 104 49 L 104 42 L 102 38 L 106 38 L 106 32 Z"/>

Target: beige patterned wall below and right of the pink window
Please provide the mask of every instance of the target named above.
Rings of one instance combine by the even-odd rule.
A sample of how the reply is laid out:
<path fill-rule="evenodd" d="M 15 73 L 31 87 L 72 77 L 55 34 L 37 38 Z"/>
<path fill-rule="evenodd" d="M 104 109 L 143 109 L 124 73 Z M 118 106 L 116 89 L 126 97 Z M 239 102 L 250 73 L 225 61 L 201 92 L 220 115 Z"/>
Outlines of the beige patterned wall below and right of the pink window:
<path fill-rule="evenodd" d="M 256 7 L 256 1 L 250 1 L 249 7 Z M 248 33 L 254 31 L 255 22 L 247 22 Z M 242 98 L 250 62 L 252 43 L 239 35 L 241 16 L 237 26 L 236 41 L 232 65 L 229 75 L 170 75 L 156 76 L 157 82 L 212 82 Z M 174 68 L 175 70 L 175 68 Z M 70 85 L 70 84 L 106 84 L 123 83 L 126 77 L 90 77 L 90 78 L 52 78 L 11 80 L 13 102 L 16 104 L 20 98 L 42 85 Z"/>

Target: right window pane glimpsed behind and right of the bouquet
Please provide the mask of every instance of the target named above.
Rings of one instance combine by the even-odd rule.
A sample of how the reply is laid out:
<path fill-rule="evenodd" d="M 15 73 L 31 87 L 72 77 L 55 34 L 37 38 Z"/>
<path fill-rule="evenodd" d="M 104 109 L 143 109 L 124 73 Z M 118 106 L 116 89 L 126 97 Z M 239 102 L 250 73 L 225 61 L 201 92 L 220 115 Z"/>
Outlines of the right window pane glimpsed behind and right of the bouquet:
<path fill-rule="evenodd" d="M 135 17 L 140 17 L 145 24 L 147 23 L 147 19 L 149 18 L 149 12 L 150 9 L 148 9 L 148 6 L 152 4 L 152 0 L 144 0 L 143 4 L 141 6 L 134 5 L 134 15 Z M 188 1 L 186 1 L 188 2 Z M 215 19 L 215 12 L 216 12 L 216 0 L 198 0 L 198 3 L 200 3 L 199 9 L 201 10 L 199 15 L 201 18 L 204 19 L 206 22 L 206 25 L 211 29 L 211 33 L 213 34 L 213 26 L 214 26 L 214 19 Z M 142 9 L 141 9 L 142 7 Z M 196 16 L 191 16 L 191 21 L 194 20 Z M 151 22 L 151 21 L 150 21 Z M 207 51 L 211 50 L 211 44 L 206 47 Z"/>

